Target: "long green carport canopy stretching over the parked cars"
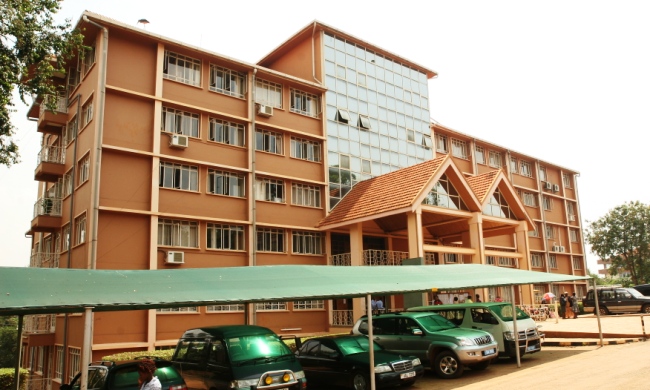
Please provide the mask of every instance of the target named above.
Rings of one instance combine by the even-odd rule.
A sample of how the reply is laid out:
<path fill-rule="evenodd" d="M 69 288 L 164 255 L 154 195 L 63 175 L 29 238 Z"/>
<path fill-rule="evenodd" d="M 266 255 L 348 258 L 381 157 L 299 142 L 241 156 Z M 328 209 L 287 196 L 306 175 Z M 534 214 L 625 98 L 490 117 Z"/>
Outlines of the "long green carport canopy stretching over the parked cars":
<path fill-rule="evenodd" d="M 0 267 L 0 315 L 351 298 L 587 279 L 480 264 L 134 271 Z"/>

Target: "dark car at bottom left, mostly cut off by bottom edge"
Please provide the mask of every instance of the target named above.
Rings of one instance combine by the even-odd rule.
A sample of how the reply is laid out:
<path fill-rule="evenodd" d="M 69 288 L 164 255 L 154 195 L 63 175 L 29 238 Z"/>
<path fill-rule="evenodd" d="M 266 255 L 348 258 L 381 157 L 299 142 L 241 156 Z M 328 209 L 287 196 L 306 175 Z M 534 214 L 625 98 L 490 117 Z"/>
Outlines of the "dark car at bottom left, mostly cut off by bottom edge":
<path fill-rule="evenodd" d="M 187 390 L 181 374 L 174 368 L 172 362 L 153 359 L 156 362 L 155 376 L 160 380 L 162 390 Z M 125 362 L 97 362 L 88 366 L 88 390 L 139 390 L 138 379 L 139 360 Z M 64 384 L 61 390 L 81 389 L 81 373 L 78 373 L 70 384 Z"/>

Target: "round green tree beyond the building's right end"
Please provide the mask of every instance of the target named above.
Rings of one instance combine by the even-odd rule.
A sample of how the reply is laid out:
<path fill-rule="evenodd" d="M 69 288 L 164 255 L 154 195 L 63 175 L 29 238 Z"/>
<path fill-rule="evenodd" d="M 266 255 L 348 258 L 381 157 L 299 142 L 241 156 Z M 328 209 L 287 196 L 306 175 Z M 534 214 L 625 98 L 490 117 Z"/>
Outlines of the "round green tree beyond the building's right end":
<path fill-rule="evenodd" d="M 587 223 L 585 239 L 593 253 L 609 261 L 612 275 L 629 271 L 635 285 L 650 281 L 650 206 L 624 203 Z"/>

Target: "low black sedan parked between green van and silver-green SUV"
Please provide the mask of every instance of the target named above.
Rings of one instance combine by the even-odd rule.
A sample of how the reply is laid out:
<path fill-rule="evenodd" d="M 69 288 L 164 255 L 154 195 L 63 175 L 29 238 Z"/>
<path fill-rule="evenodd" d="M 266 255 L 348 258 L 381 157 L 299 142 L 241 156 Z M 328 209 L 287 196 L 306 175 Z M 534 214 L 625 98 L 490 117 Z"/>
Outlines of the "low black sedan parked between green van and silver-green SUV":
<path fill-rule="evenodd" d="M 370 388 L 370 345 L 362 335 L 337 335 L 309 339 L 296 351 L 311 384 L 344 386 L 354 390 Z M 424 374 L 415 356 L 388 352 L 373 343 L 377 388 L 410 386 Z M 331 388 L 331 387 L 328 387 Z"/>

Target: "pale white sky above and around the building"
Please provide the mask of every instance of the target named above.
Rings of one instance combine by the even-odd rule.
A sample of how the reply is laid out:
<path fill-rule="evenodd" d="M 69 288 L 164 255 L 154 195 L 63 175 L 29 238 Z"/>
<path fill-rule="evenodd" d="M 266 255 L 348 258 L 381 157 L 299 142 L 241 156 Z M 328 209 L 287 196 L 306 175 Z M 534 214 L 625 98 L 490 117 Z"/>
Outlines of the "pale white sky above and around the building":
<path fill-rule="evenodd" d="M 644 178 L 650 115 L 650 2 L 600 0 L 64 0 L 57 18 L 94 13 L 256 63 L 314 20 L 438 73 L 436 122 L 580 172 L 583 228 L 629 201 Z M 41 139 L 18 107 L 20 164 L 0 167 L 0 266 L 28 266 Z M 645 130 L 644 130 L 645 129 Z M 587 248 L 588 251 L 588 248 Z M 596 272 L 596 257 L 587 253 Z"/>

